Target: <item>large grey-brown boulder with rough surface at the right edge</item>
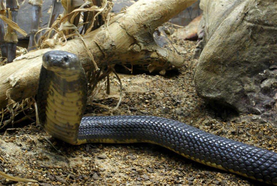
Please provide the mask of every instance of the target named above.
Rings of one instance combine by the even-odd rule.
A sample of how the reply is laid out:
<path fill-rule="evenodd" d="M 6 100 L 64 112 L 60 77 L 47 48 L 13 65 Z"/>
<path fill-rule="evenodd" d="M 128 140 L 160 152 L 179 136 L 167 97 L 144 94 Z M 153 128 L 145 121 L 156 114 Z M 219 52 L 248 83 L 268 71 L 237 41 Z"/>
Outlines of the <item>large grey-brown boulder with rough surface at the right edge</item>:
<path fill-rule="evenodd" d="M 200 97 L 276 122 L 277 1 L 201 1 Z"/>

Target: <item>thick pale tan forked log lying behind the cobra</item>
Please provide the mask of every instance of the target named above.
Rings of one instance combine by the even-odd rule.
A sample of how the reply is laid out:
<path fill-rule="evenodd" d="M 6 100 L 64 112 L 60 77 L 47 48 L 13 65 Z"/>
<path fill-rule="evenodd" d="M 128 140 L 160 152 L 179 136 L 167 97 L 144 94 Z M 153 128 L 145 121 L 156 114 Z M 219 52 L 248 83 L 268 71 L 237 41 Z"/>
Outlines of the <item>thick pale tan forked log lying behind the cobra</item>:
<path fill-rule="evenodd" d="M 151 68 L 181 67 L 184 58 L 158 47 L 152 35 L 158 26 L 195 1 L 137 1 L 125 13 L 112 18 L 108 29 L 103 25 L 93 30 L 83 37 L 84 41 L 98 67 L 115 63 L 151 64 Z M 0 67 L 0 108 L 12 100 L 21 101 L 36 94 L 42 55 L 51 50 L 75 53 L 86 71 L 94 68 L 83 41 L 78 38 L 64 46 L 57 45 L 20 56 L 13 63 Z"/>

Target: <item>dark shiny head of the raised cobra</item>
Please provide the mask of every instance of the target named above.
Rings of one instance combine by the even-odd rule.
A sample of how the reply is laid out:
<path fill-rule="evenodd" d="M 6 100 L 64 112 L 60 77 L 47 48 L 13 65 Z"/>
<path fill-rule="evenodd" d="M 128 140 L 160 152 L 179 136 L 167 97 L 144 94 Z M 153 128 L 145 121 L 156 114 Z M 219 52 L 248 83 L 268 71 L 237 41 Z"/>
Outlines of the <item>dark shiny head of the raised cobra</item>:
<path fill-rule="evenodd" d="M 43 55 L 42 60 L 44 68 L 53 72 L 75 71 L 81 67 L 79 58 L 66 51 L 48 51 Z"/>

